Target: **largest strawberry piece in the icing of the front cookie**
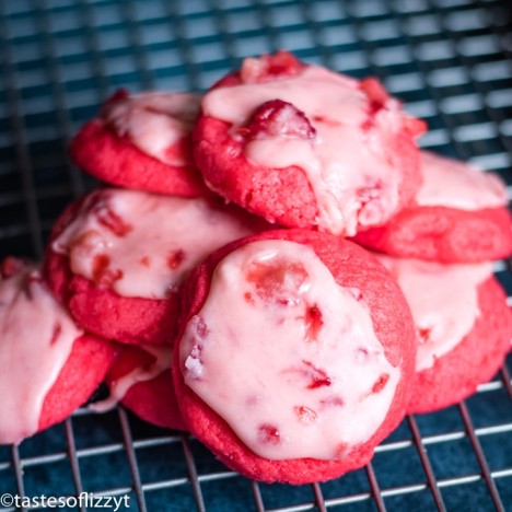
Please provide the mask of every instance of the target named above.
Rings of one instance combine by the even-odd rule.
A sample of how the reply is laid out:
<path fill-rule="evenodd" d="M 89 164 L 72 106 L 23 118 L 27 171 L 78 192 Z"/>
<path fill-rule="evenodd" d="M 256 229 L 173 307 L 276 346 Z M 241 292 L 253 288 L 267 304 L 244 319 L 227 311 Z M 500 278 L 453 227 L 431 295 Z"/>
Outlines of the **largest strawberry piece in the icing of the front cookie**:
<path fill-rule="evenodd" d="M 304 266 L 293 261 L 254 263 L 245 279 L 256 288 L 256 294 L 264 301 L 279 305 L 296 305 L 307 282 Z"/>

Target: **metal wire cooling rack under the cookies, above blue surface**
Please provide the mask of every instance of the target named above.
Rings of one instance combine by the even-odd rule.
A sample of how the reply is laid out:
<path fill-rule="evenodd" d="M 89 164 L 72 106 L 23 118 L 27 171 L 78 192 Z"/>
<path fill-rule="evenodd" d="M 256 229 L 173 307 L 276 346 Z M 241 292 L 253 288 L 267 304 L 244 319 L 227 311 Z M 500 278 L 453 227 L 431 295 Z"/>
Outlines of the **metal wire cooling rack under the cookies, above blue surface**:
<path fill-rule="evenodd" d="M 40 258 L 56 217 L 94 186 L 65 151 L 115 89 L 202 91 L 278 48 L 380 77 L 428 121 L 423 147 L 497 172 L 510 193 L 510 28 L 507 0 L 0 0 L 0 256 Z M 496 272 L 511 301 L 510 266 Z M 127 496 L 140 511 L 510 511 L 511 363 L 464 403 L 408 417 L 370 465 L 326 484 L 256 484 L 186 434 L 81 409 L 0 447 L 0 494 Z"/>

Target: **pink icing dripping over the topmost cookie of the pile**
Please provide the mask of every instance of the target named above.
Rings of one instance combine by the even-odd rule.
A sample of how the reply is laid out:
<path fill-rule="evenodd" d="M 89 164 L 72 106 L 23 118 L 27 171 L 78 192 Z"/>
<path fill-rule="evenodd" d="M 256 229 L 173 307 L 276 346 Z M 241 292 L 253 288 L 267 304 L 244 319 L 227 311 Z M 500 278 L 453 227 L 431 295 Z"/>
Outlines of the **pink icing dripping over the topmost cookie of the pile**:
<path fill-rule="evenodd" d="M 286 129 L 256 136 L 245 144 L 246 158 L 268 167 L 301 167 L 323 231 L 353 235 L 359 225 L 384 223 L 398 208 L 402 185 L 389 154 L 393 133 L 403 125 L 398 102 L 388 97 L 375 108 L 357 81 L 307 66 L 296 77 L 214 89 L 202 110 L 231 123 L 237 137 L 255 109 L 276 98 L 305 115 L 315 136 L 294 137 Z"/>

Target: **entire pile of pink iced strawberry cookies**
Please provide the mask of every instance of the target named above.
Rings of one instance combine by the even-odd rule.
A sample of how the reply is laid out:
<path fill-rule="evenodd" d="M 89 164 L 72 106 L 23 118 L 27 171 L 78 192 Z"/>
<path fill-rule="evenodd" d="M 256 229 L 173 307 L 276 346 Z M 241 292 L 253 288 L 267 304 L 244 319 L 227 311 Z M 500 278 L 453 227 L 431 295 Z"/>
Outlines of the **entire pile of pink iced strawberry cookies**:
<path fill-rule="evenodd" d="M 511 349 L 492 277 L 511 217 L 497 176 L 418 148 L 426 129 L 377 80 L 286 51 L 202 97 L 115 94 L 70 146 L 108 185 L 66 209 L 40 271 L 1 268 L 0 374 L 38 381 L 23 372 L 0 442 L 104 380 L 95 410 L 305 484 L 470 395 Z"/>

